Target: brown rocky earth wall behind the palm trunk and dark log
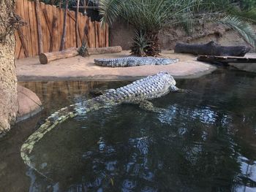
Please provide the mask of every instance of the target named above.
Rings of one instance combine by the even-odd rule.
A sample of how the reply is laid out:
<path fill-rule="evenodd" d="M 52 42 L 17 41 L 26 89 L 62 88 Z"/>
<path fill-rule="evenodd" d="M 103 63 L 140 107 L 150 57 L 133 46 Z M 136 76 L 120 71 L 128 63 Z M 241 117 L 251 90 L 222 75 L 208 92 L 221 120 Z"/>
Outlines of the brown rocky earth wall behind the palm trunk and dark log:
<path fill-rule="evenodd" d="M 121 45 L 123 50 L 129 50 L 133 36 L 134 28 L 123 20 L 110 26 L 110 46 Z M 162 50 L 173 50 L 176 42 L 206 43 L 211 40 L 222 45 L 247 45 L 236 31 L 214 23 L 198 23 L 190 34 L 181 27 L 170 27 L 159 33 Z"/>

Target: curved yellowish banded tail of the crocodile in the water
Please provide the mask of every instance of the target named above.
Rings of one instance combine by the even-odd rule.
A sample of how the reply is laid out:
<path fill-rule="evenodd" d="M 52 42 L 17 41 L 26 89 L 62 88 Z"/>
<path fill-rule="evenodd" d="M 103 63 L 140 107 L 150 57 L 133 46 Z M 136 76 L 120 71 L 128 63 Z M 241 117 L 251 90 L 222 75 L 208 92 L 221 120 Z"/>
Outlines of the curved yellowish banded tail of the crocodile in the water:
<path fill-rule="evenodd" d="M 41 172 L 39 172 L 34 167 L 34 164 L 32 164 L 31 159 L 29 158 L 29 154 L 32 152 L 34 145 L 37 142 L 39 142 L 39 140 L 42 139 L 42 137 L 44 137 L 46 133 L 48 133 L 50 130 L 55 128 L 59 123 L 62 123 L 64 120 L 67 120 L 68 118 L 73 118 L 76 115 L 78 115 L 78 112 L 76 110 L 77 105 L 78 104 L 72 104 L 72 105 L 69 105 L 69 107 L 64 107 L 61 110 L 54 112 L 45 120 L 45 123 L 43 123 L 37 129 L 37 131 L 35 131 L 33 134 L 29 136 L 28 139 L 26 139 L 26 142 L 24 142 L 23 145 L 21 146 L 20 155 L 24 163 L 44 177 L 46 177 L 45 174 L 42 174 Z"/>

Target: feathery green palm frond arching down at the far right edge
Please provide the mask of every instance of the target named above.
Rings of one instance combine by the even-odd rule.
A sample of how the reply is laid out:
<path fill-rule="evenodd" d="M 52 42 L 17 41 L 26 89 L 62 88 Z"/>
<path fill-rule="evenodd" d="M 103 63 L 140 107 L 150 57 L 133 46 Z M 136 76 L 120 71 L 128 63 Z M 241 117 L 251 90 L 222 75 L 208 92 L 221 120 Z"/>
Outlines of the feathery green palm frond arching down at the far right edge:
<path fill-rule="evenodd" d="M 241 20 L 241 18 L 230 15 L 225 16 L 219 20 L 218 23 L 238 31 L 246 42 L 252 45 L 252 47 L 256 47 L 256 34 L 250 23 Z"/>

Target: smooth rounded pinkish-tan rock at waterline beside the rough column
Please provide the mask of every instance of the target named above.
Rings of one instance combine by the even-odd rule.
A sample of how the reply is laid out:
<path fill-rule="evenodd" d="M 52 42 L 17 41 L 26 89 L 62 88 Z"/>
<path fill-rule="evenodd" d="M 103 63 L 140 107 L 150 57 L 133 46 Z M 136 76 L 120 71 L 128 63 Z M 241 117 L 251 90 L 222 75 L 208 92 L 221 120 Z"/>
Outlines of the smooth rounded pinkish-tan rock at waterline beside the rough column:
<path fill-rule="evenodd" d="M 18 119 L 25 120 L 42 110 L 42 103 L 37 94 L 18 85 Z"/>

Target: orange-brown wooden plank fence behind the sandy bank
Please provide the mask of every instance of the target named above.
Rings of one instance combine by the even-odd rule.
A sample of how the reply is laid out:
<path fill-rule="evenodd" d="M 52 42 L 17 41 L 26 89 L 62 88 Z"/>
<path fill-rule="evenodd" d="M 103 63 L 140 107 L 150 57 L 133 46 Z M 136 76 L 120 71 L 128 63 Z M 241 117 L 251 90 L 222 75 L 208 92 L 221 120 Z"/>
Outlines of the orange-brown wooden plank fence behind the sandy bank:
<path fill-rule="evenodd" d="M 18 0 L 16 12 L 27 25 L 20 31 L 15 31 L 16 58 L 25 58 L 39 55 L 37 18 L 34 1 Z M 39 3 L 39 17 L 42 25 L 43 52 L 58 51 L 61 46 L 61 35 L 64 23 L 64 9 L 56 6 Z M 78 42 L 81 45 L 84 27 L 88 26 L 89 34 L 87 45 L 89 47 L 108 47 L 108 26 L 101 27 L 99 22 L 91 22 L 90 18 L 82 13 L 78 14 Z M 67 12 L 67 34 L 65 48 L 76 46 L 75 12 Z"/>

